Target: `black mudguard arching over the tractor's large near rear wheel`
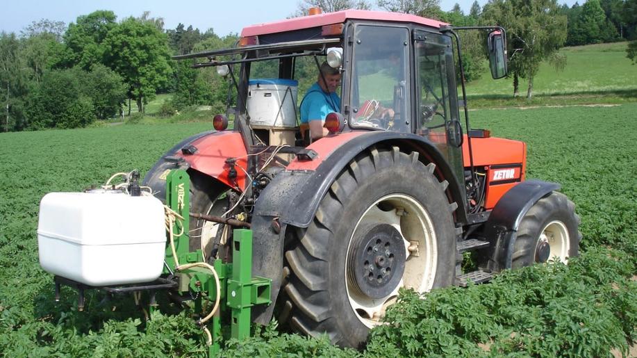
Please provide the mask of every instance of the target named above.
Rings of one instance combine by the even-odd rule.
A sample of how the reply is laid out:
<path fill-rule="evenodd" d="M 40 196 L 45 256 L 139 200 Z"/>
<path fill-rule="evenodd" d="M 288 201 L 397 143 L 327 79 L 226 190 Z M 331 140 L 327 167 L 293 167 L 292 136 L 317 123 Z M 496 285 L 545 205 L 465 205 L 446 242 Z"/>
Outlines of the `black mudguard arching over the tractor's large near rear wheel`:
<path fill-rule="evenodd" d="M 421 136 L 372 131 L 336 149 L 315 171 L 283 171 L 274 177 L 255 203 L 252 217 L 252 275 L 272 279 L 272 302 L 276 302 L 283 275 L 283 243 L 288 225 L 308 227 L 323 196 L 343 168 L 363 150 L 373 145 L 397 145 L 405 152 L 419 152 L 421 160 L 437 164 L 436 174 L 449 181 L 449 197 L 458 203 L 456 222 L 465 223 L 464 189 L 440 151 Z M 278 221 L 277 234 L 272 221 Z M 276 225 L 275 225 L 276 226 Z M 267 324 L 274 304 L 253 307 L 253 320 Z"/>

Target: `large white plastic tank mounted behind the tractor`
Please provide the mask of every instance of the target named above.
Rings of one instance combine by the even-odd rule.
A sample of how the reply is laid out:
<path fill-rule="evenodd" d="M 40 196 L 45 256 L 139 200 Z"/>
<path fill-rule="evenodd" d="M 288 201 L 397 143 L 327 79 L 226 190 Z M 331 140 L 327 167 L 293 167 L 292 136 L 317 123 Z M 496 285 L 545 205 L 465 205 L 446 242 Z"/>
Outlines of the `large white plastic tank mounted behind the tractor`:
<path fill-rule="evenodd" d="M 40 202 L 40 266 L 90 286 L 149 282 L 163 270 L 164 208 L 113 190 L 49 193 Z"/>

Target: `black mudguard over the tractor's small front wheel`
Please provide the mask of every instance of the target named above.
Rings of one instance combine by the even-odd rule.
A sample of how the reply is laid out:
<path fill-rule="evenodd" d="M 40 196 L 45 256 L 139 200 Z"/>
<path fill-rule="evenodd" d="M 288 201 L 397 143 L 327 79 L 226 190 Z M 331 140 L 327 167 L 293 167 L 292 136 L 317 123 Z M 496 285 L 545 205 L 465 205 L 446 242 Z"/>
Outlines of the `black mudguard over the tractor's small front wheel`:
<path fill-rule="evenodd" d="M 500 198 L 485 225 L 485 235 L 492 248 L 488 254 L 488 270 L 499 272 L 511 268 L 520 221 L 538 200 L 560 188 L 559 184 L 546 181 L 522 181 Z"/>

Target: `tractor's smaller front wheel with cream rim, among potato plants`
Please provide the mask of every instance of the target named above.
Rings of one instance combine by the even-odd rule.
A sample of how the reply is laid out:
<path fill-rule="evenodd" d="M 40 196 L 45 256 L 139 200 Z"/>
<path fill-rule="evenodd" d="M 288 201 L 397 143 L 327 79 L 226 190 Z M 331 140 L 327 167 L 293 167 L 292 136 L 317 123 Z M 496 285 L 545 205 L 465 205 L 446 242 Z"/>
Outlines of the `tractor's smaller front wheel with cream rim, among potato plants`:
<path fill-rule="evenodd" d="M 553 192 L 531 206 L 520 222 L 513 247 L 511 268 L 549 260 L 568 263 L 579 254 L 581 234 L 575 204 Z"/>

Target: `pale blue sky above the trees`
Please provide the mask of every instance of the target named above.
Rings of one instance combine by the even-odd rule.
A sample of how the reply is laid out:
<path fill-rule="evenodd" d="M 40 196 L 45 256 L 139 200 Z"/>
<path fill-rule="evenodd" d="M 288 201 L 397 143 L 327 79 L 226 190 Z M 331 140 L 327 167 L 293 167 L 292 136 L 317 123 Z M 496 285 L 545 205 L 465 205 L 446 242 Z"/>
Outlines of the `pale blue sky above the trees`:
<path fill-rule="evenodd" d="M 474 0 L 441 0 L 442 10 L 451 10 L 457 2 L 465 13 Z M 75 22 L 79 15 L 94 10 L 113 10 L 117 19 L 140 16 L 144 11 L 151 17 L 163 17 L 165 29 L 174 29 L 180 22 L 205 31 L 213 28 L 217 35 L 239 33 L 243 26 L 284 19 L 297 9 L 297 0 L 0 0 L 0 31 L 19 33 L 25 26 L 39 19 Z M 370 1 L 375 3 L 376 1 Z M 483 5 L 487 0 L 478 0 Z M 560 0 L 572 5 L 575 0 Z M 581 1 L 584 2 L 584 1 Z M 231 4 L 231 5 L 230 5 Z"/>

